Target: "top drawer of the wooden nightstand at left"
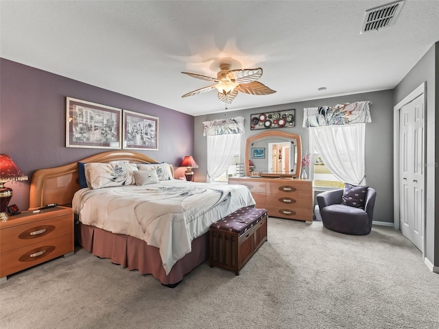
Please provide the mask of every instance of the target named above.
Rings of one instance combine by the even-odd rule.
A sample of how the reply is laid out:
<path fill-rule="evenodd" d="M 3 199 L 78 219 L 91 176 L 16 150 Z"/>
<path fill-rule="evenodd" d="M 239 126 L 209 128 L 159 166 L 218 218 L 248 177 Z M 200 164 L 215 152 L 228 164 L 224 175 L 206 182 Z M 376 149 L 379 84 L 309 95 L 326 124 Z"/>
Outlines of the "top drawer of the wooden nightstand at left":
<path fill-rule="evenodd" d="M 51 217 L 0 230 L 0 253 L 18 249 L 73 232 L 72 215 Z"/>

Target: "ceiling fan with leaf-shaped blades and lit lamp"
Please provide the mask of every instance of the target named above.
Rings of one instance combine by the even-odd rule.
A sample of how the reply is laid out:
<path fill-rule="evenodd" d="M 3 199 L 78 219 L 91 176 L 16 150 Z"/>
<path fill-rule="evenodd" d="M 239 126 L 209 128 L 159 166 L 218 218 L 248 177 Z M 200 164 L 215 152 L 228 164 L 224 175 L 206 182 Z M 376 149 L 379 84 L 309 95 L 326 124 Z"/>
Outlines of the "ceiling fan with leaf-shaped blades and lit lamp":
<path fill-rule="evenodd" d="M 260 67 L 257 69 L 243 70 L 230 70 L 230 68 L 230 64 L 220 64 L 219 69 L 221 71 L 217 73 L 217 77 L 206 77 L 206 75 L 182 72 L 190 77 L 216 82 L 216 84 L 212 86 L 193 90 L 190 93 L 182 95 L 182 97 L 207 93 L 208 91 L 216 89 L 218 90 L 219 101 L 230 104 L 238 95 L 238 92 L 252 95 L 270 95 L 276 93 L 275 90 L 256 81 L 262 76 L 262 69 Z"/>

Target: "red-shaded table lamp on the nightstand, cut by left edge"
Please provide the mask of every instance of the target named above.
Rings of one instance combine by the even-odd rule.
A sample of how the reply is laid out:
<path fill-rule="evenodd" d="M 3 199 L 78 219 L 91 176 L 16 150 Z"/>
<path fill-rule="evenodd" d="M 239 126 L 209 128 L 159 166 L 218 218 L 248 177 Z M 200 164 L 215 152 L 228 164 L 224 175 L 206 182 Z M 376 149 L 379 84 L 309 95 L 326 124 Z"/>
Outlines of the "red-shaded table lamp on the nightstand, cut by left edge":
<path fill-rule="evenodd" d="M 5 187 L 10 180 L 27 180 L 27 175 L 16 166 L 8 154 L 0 154 L 0 212 L 5 212 L 12 199 L 12 188 Z"/>

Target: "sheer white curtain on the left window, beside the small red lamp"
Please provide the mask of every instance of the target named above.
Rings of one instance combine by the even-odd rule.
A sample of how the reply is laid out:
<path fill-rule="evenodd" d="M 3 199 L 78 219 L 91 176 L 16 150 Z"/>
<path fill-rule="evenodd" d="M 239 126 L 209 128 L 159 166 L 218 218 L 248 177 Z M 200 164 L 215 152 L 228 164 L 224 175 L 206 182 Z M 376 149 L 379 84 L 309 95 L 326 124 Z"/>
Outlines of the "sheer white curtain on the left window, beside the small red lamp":
<path fill-rule="evenodd" d="M 208 183 L 213 182 L 230 166 L 240 141 L 241 134 L 207 136 Z"/>

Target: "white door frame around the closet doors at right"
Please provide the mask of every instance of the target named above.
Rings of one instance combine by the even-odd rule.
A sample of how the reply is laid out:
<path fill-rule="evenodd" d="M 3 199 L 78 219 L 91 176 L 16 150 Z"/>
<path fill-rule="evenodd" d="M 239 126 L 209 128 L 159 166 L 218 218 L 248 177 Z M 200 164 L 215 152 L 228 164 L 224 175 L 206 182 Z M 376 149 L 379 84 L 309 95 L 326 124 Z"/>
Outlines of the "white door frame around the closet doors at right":
<path fill-rule="evenodd" d="M 393 226 L 395 230 L 400 230 L 399 228 L 399 199 L 400 199 L 400 191 L 399 191 L 399 118 L 400 118 L 400 110 L 403 106 L 410 103 L 420 95 L 423 95 L 424 97 L 424 163 L 426 160 L 426 154 L 425 154 L 425 144 L 427 143 L 427 134 L 425 129 L 425 116 L 426 116 L 426 82 L 423 82 L 412 91 L 409 95 L 404 97 L 402 101 L 396 104 L 394 106 L 393 111 Z M 424 191 L 425 191 L 425 175 L 424 175 Z M 425 208 L 425 192 L 424 192 L 424 208 Z M 425 211 L 424 211 L 424 218 L 422 220 L 423 223 L 423 260 L 425 259 Z"/>

